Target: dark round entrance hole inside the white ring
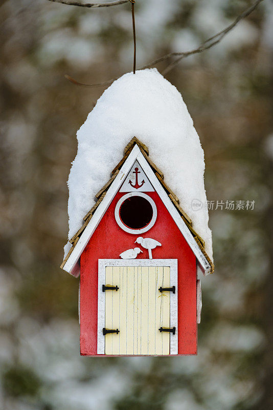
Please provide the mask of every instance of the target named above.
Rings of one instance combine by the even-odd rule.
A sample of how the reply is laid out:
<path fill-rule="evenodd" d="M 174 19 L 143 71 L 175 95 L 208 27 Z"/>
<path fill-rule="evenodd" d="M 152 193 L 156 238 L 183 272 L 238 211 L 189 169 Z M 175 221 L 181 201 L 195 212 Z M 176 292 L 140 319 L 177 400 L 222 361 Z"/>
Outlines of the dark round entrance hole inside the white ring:
<path fill-rule="evenodd" d="M 130 196 L 120 207 L 120 219 L 130 229 L 142 229 L 151 222 L 153 209 L 142 196 Z"/>

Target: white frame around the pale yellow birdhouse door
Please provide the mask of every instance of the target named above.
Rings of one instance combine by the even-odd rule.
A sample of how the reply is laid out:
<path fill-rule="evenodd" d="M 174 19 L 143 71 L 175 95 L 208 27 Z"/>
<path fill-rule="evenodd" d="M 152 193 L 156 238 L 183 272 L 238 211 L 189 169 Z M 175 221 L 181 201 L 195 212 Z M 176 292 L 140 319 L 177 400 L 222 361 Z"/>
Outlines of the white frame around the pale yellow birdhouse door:
<path fill-rule="evenodd" d="M 175 335 L 170 337 L 170 355 L 178 354 L 178 317 L 177 317 L 177 259 L 99 259 L 98 269 L 98 347 L 97 354 L 105 354 L 105 283 L 106 267 L 170 267 L 170 286 L 175 286 L 175 294 L 170 292 L 170 326 L 175 326 Z"/>

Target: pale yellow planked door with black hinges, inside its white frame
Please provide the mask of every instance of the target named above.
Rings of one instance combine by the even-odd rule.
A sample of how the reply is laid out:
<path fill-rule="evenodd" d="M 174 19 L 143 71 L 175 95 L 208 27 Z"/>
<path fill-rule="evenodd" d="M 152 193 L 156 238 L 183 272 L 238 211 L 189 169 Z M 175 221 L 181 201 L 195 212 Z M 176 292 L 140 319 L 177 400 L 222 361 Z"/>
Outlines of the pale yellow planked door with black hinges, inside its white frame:
<path fill-rule="evenodd" d="M 106 355 L 169 355 L 170 267 L 105 267 L 105 327 L 119 334 L 105 335 Z"/>

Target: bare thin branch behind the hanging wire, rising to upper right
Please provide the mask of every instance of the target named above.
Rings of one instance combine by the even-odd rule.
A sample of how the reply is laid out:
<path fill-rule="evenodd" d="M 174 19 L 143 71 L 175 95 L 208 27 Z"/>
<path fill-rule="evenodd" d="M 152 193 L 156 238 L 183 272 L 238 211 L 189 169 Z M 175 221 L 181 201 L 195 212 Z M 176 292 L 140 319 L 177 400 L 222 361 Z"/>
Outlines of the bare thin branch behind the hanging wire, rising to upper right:
<path fill-rule="evenodd" d="M 214 34 L 212 37 L 205 40 L 198 48 L 194 50 L 190 50 L 190 51 L 182 51 L 182 52 L 165 54 L 162 57 L 151 61 L 151 63 L 146 64 L 145 66 L 141 67 L 140 70 L 144 70 L 145 68 L 154 67 L 156 64 L 162 63 L 162 61 L 165 61 L 170 57 L 178 57 L 169 66 L 165 68 L 162 74 L 166 74 L 169 71 L 171 71 L 176 66 L 176 64 L 178 64 L 179 61 L 181 61 L 181 59 L 186 58 L 189 55 L 198 54 L 198 53 L 202 53 L 203 51 L 209 50 L 211 47 L 220 43 L 220 41 L 223 39 L 224 36 L 226 36 L 227 33 L 229 33 L 243 18 L 249 16 L 249 14 L 251 14 L 259 6 L 259 4 L 263 1 L 264 0 L 257 0 L 251 7 L 245 10 L 243 13 L 239 14 L 232 24 L 230 24 L 229 26 L 225 27 L 223 30 L 219 31 L 218 33 Z M 108 81 L 104 81 L 104 83 L 99 83 L 99 84 L 81 84 L 69 76 L 66 76 L 66 78 L 69 79 L 72 83 L 77 84 L 78 86 L 82 86 L 82 87 L 107 86 L 117 79 L 117 78 L 112 78 Z"/>

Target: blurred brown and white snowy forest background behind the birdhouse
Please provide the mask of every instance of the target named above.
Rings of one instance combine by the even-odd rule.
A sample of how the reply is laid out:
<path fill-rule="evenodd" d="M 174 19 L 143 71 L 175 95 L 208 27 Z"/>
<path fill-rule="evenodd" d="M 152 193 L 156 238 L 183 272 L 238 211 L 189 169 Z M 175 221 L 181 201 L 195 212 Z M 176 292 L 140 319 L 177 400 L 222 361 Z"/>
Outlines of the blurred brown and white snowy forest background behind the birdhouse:
<path fill-rule="evenodd" d="M 137 0 L 138 66 L 197 47 L 251 4 Z M 108 359 L 80 357 L 78 279 L 59 269 L 76 131 L 103 87 L 64 74 L 99 83 L 131 71 L 130 4 L 0 5 L 0 408 L 273 408 L 272 2 L 167 75 L 200 136 L 208 200 L 255 200 L 210 210 L 216 273 L 202 278 L 198 356 Z"/>

